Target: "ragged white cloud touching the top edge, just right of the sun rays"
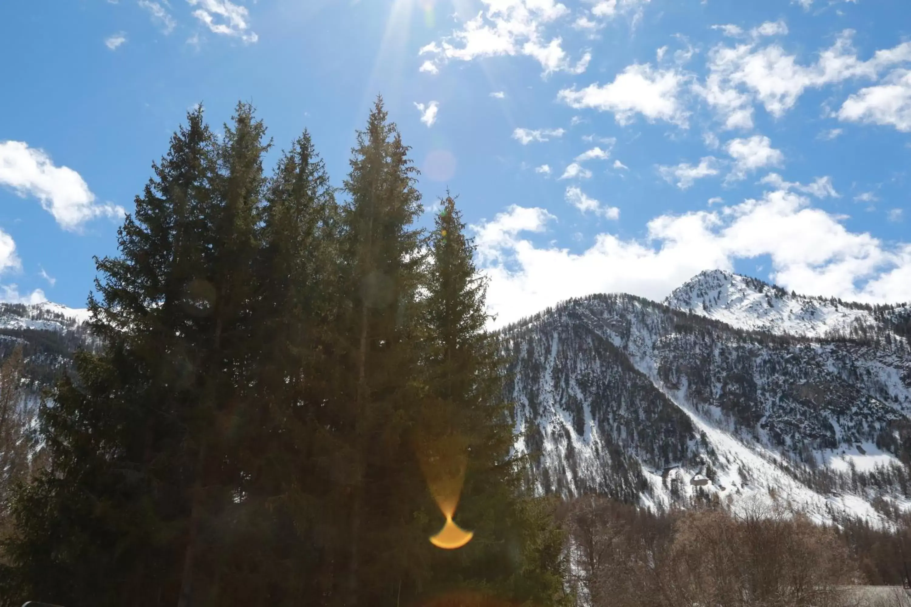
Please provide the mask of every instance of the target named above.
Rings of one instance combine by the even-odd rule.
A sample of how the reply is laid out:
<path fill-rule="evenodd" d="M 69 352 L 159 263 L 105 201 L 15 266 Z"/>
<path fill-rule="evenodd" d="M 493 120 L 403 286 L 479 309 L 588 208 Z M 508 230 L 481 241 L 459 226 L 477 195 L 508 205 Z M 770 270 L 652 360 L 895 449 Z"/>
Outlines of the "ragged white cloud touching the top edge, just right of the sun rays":
<path fill-rule="evenodd" d="M 545 36 L 545 26 L 569 14 L 555 0 L 481 0 L 486 10 L 462 23 L 452 35 L 423 46 L 419 55 L 435 55 L 435 62 L 472 61 L 488 56 L 530 56 L 543 67 L 542 76 L 564 71 L 581 74 L 591 60 L 583 53 L 573 62 L 560 37 Z"/>

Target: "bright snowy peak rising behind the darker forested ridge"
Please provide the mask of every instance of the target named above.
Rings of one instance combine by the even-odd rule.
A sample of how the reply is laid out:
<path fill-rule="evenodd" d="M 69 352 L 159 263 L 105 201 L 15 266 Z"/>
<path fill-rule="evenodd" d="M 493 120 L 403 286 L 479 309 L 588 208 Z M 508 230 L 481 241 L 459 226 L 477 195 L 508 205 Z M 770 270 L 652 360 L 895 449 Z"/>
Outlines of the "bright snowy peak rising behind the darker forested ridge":
<path fill-rule="evenodd" d="M 738 329 L 824 338 L 875 324 L 866 309 L 788 293 L 756 278 L 720 269 L 701 272 L 664 300 L 673 309 L 721 320 Z"/>

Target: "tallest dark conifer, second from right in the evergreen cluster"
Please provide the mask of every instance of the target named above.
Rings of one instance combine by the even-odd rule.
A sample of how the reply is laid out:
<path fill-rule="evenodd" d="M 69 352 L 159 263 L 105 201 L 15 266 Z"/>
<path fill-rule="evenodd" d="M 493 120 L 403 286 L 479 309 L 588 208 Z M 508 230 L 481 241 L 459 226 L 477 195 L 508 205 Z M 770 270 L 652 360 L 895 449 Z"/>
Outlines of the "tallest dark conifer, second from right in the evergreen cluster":
<path fill-rule="evenodd" d="M 377 98 L 357 134 L 340 235 L 345 300 L 333 409 L 345 447 L 334 465 L 349 494 L 340 504 L 347 507 L 350 546 L 340 590 L 348 605 L 393 601 L 423 569 L 414 521 L 425 493 L 409 436 L 417 410 L 415 298 L 424 238 L 413 224 L 423 208 L 407 152 Z"/>

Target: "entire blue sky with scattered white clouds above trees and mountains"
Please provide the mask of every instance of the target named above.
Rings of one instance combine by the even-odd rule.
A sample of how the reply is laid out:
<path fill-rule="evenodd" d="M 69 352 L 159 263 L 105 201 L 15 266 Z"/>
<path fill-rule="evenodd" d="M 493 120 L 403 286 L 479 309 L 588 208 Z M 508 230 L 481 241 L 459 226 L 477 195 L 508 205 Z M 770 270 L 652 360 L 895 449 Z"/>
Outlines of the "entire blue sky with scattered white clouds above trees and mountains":
<path fill-rule="evenodd" d="M 85 305 L 190 106 L 308 128 L 341 185 L 377 93 L 500 322 L 706 268 L 911 299 L 906 0 L 31 0 L 0 52 L 7 300 Z"/>

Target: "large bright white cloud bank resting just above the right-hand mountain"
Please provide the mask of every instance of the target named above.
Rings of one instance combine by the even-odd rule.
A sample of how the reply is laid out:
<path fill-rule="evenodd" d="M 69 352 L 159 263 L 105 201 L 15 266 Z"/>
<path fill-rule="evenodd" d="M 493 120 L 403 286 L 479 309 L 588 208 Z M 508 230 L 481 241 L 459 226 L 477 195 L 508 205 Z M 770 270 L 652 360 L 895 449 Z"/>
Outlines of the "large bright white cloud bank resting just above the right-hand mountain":
<path fill-rule="evenodd" d="M 474 227 L 479 262 L 491 278 L 496 325 L 590 293 L 667 296 L 703 269 L 769 256 L 772 278 L 787 289 L 860 301 L 911 300 L 911 245 L 886 246 L 850 232 L 810 199 L 776 190 L 714 211 L 650 220 L 646 238 L 601 233 L 581 253 L 537 246 L 522 234 L 545 232 L 554 216 L 510 207 Z"/>

